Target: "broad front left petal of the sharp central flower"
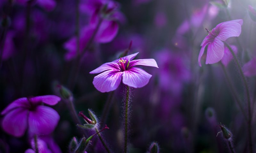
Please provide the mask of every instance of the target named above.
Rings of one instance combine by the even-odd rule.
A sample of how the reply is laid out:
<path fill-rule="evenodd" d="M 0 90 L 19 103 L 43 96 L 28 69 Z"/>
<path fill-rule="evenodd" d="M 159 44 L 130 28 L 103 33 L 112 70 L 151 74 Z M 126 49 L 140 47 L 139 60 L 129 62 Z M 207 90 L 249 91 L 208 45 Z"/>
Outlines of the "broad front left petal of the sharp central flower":
<path fill-rule="evenodd" d="M 94 77 L 93 85 L 100 92 L 116 90 L 121 82 L 123 72 L 107 70 Z"/>

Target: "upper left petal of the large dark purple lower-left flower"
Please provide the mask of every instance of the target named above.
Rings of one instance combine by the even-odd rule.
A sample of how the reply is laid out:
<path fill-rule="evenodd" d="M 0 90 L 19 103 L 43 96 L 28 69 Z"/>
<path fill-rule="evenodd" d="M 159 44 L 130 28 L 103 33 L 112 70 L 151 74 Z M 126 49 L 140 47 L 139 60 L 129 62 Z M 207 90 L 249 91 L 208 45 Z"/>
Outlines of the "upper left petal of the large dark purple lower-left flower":
<path fill-rule="evenodd" d="M 17 100 L 14 100 L 9 106 L 7 106 L 7 107 L 1 112 L 1 115 L 4 115 L 4 114 L 10 112 L 12 109 L 17 108 L 17 107 L 25 107 L 25 108 L 28 108 L 28 107 L 29 107 L 28 98 L 24 97 L 24 98 L 19 98 L 19 99 L 17 99 Z"/>

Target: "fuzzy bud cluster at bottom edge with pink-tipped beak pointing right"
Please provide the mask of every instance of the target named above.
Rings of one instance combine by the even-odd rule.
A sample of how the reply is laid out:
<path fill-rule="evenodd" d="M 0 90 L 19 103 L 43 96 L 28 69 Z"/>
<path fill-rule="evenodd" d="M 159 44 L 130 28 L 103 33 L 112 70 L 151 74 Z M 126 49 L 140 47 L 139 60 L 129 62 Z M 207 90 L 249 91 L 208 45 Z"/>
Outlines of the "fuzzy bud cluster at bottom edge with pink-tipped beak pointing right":
<path fill-rule="evenodd" d="M 102 132 L 105 129 L 109 129 L 106 125 L 105 128 L 101 129 L 99 132 L 89 136 L 87 139 L 83 137 L 80 142 L 77 142 L 76 137 L 73 137 L 72 140 L 69 143 L 68 149 L 70 153 L 84 153 L 86 152 L 85 149 L 87 148 L 88 144 L 91 143 L 91 139 L 94 135 L 97 135 L 98 133 Z"/>

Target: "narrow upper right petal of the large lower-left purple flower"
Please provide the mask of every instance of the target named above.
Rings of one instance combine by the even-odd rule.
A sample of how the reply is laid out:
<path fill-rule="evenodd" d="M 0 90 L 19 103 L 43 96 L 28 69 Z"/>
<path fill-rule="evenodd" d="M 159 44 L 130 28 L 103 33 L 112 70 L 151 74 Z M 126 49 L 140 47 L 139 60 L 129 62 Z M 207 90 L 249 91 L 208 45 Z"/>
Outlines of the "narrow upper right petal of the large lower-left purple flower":
<path fill-rule="evenodd" d="M 29 100 L 33 103 L 40 103 L 43 102 L 48 105 L 56 105 L 61 98 L 55 95 L 46 95 L 46 96 L 36 96 L 36 97 L 31 97 Z"/>

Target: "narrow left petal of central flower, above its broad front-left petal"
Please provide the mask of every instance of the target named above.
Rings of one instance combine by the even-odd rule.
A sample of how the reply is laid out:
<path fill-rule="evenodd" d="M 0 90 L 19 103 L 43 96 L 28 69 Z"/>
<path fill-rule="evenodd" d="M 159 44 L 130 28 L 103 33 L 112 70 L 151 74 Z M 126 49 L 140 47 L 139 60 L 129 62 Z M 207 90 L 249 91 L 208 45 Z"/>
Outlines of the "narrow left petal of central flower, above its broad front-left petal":
<path fill-rule="evenodd" d="M 97 69 L 94 69 L 93 71 L 91 71 L 90 74 L 96 74 L 96 73 L 100 73 L 100 72 L 103 72 L 103 71 L 106 71 L 106 70 L 120 71 L 120 68 L 119 68 L 117 62 L 118 61 L 104 63 L 100 67 L 98 67 Z"/>

